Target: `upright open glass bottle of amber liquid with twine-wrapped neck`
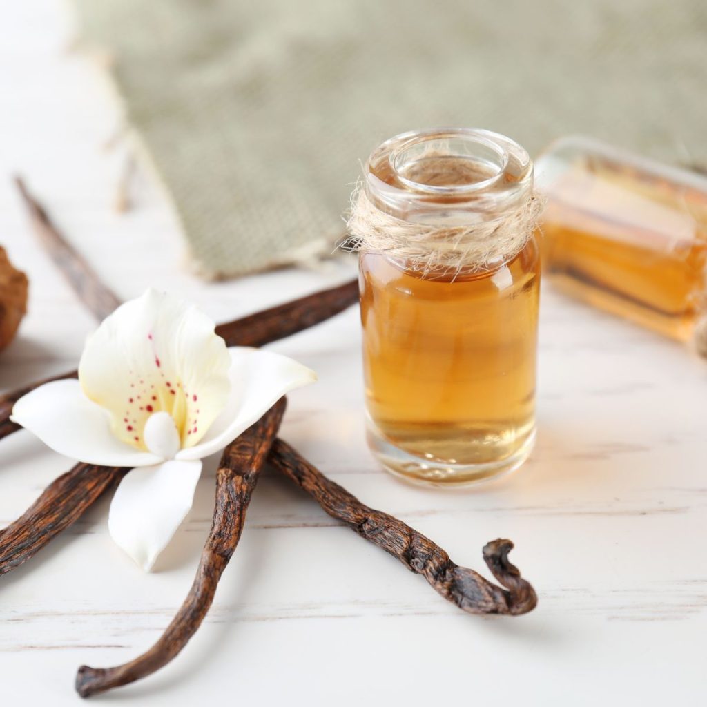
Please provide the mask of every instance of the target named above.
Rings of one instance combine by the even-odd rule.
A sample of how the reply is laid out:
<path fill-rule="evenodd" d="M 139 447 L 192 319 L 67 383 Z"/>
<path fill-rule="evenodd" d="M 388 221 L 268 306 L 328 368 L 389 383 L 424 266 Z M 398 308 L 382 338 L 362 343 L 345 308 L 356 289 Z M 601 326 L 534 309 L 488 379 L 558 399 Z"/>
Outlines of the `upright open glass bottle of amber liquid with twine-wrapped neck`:
<path fill-rule="evenodd" d="M 432 251 L 457 249 L 460 259 L 452 265 L 443 257 L 431 268 L 399 238 L 390 249 L 380 238 L 379 247 L 367 247 L 368 222 L 349 221 L 363 241 L 368 442 L 399 477 L 467 485 L 510 472 L 530 454 L 539 252 L 527 219 L 520 237 L 513 222 L 515 240 L 507 241 L 508 218 L 526 213 L 532 184 L 527 152 L 484 130 L 402 134 L 368 160 L 368 218 L 384 219 L 384 242 L 386 228 L 420 226 L 438 239 L 462 233 L 467 244 L 437 240 Z M 489 245 L 487 257 L 474 262 L 468 253 L 479 245 L 477 231 Z"/>

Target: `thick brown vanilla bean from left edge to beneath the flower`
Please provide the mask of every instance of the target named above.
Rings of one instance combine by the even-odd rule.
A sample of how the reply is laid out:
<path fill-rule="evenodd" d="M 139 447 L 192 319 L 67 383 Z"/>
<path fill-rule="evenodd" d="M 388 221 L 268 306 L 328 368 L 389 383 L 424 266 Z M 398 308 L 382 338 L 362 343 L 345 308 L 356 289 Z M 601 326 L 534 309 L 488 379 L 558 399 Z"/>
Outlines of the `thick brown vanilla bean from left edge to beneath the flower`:
<path fill-rule="evenodd" d="M 117 484 L 128 469 L 76 464 L 54 479 L 15 522 L 0 530 L 0 575 L 18 568 Z"/>

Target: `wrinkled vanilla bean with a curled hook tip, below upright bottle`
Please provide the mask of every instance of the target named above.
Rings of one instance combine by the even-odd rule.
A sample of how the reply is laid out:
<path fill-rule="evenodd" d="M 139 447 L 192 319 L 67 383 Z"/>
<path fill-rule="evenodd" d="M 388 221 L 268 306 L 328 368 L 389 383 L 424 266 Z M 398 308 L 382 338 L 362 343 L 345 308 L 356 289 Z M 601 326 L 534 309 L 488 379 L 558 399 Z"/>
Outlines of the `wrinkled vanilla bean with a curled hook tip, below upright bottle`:
<path fill-rule="evenodd" d="M 273 445 L 270 461 L 332 518 L 397 557 L 412 572 L 423 575 L 440 595 L 465 612 L 516 615 L 530 612 L 537 604 L 530 583 L 508 561 L 508 552 L 513 548 L 510 540 L 493 540 L 484 547 L 484 561 L 505 588 L 502 589 L 474 570 L 452 562 L 442 548 L 402 520 L 365 506 L 283 440 Z"/>

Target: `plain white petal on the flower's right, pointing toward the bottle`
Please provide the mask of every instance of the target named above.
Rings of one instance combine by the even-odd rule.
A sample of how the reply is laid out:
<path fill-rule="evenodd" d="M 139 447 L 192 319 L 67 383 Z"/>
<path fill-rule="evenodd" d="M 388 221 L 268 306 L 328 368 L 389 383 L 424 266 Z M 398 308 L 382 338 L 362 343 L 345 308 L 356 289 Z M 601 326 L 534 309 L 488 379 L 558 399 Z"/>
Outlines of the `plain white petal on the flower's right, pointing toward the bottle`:
<path fill-rule="evenodd" d="M 176 459 L 203 459 L 218 452 L 257 422 L 283 395 L 317 380 L 317 374 L 287 356 L 234 346 L 228 349 L 230 395 L 223 412 L 201 443 L 177 453 Z"/>

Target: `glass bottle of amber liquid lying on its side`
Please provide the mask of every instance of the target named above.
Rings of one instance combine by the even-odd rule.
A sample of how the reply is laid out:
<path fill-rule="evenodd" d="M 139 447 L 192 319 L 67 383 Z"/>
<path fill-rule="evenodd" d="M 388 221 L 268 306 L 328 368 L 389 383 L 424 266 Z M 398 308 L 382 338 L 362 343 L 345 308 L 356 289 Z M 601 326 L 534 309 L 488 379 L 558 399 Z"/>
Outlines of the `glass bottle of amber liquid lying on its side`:
<path fill-rule="evenodd" d="M 687 341 L 707 297 L 707 178 L 589 138 L 536 163 L 544 271 L 563 291 Z"/>

